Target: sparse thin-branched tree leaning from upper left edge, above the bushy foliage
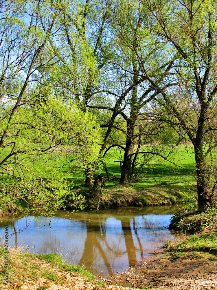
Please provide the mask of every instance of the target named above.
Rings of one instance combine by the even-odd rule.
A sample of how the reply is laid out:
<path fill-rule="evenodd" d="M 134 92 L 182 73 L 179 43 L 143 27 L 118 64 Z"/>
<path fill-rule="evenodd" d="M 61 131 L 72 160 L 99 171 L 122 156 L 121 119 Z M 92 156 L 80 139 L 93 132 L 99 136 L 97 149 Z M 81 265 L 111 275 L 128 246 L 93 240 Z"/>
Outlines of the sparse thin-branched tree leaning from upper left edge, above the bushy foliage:
<path fill-rule="evenodd" d="M 52 55 L 43 51 L 50 34 L 55 34 L 56 8 L 51 3 L 33 1 L 14 3 L 5 1 L 1 6 L 1 139 L 0 154 L 2 165 L 14 156 L 13 143 L 5 144 L 12 119 L 22 105 L 26 105 L 29 95 L 37 83 L 38 70 L 54 64 Z M 49 11 L 49 12 L 48 12 Z M 30 88 L 31 84 L 31 88 Z M 33 88 L 33 89 L 32 89 Z M 28 91 L 27 91 L 28 90 Z M 3 157 L 5 148 L 11 147 Z M 8 152 L 8 150 L 6 150 Z"/>

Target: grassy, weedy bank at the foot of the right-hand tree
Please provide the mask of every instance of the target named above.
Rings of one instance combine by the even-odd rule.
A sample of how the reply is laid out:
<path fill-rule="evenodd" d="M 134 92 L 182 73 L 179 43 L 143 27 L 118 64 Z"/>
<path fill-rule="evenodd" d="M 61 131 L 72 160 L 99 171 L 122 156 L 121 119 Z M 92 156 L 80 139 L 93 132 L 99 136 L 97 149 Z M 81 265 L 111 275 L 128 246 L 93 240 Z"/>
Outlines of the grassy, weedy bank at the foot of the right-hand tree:
<path fill-rule="evenodd" d="M 170 229 L 183 237 L 178 244 L 167 244 L 173 258 L 190 251 L 195 254 L 202 251 L 211 253 L 212 260 L 217 260 L 217 207 L 199 213 L 194 205 L 184 206 L 172 218 Z"/>

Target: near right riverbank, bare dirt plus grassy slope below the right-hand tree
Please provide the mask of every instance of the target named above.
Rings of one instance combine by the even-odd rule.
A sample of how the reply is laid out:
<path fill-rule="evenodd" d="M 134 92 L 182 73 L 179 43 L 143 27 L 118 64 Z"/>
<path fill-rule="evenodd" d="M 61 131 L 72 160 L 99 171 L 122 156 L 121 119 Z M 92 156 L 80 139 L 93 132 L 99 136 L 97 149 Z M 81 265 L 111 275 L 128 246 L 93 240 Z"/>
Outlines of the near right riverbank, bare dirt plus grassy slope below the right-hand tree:
<path fill-rule="evenodd" d="M 196 206 L 185 206 L 174 215 L 170 228 L 181 233 L 177 241 L 111 277 L 111 283 L 135 289 L 217 289 L 217 208 L 198 213 Z"/>

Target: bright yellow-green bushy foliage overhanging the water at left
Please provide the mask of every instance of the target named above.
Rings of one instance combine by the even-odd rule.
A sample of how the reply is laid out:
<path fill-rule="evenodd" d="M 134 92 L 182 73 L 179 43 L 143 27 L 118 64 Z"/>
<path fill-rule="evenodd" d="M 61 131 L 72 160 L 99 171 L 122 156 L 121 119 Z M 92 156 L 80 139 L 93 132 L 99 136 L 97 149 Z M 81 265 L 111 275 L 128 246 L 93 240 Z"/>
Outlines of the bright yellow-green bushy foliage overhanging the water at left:
<path fill-rule="evenodd" d="M 13 204 L 18 208 L 22 201 L 28 205 L 26 213 L 39 213 L 40 207 L 41 213 L 52 215 L 64 207 L 65 198 L 70 196 L 71 204 L 82 209 L 84 197 L 71 190 L 73 184 L 68 182 L 67 172 L 52 167 L 50 162 L 67 155 L 73 166 L 96 167 L 101 137 L 95 117 L 72 103 L 48 99 L 34 108 L 20 107 L 9 133 L 6 140 L 15 154 L 8 155 L 8 146 L 0 149 L 2 159 L 9 156 L 0 180 L 0 206 L 7 204 L 10 208 Z"/>

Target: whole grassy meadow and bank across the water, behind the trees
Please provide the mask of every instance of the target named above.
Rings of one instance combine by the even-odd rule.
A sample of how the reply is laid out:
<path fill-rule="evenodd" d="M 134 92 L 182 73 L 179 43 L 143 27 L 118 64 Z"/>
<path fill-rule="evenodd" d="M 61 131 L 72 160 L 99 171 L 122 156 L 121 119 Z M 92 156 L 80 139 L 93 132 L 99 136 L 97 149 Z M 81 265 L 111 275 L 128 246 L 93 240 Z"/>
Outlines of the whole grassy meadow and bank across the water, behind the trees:
<path fill-rule="evenodd" d="M 144 148 L 145 150 L 148 147 Z M 188 151 L 188 152 L 187 152 Z M 119 184 L 118 178 L 121 175 L 120 163 L 123 151 L 112 148 L 104 157 L 104 162 L 108 168 L 111 178 L 107 179 L 106 172 L 101 166 L 98 168 L 97 174 L 102 174 L 106 178 L 103 195 L 100 201 L 100 208 L 111 206 L 144 206 L 144 205 L 162 205 L 162 204 L 182 204 L 196 202 L 196 179 L 195 179 L 195 160 L 192 147 L 189 145 L 185 150 L 184 145 L 180 145 L 176 152 L 170 155 L 171 162 L 161 157 L 153 157 L 148 164 L 144 165 L 139 174 L 131 181 L 130 185 L 122 186 Z M 98 203 L 98 193 L 94 193 L 92 189 L 84 187 L 84 170 L 82 164 L 75 163 L 74 155 L 70 155 L 64 151 L 58 151 L 43 156 L 43 159 L 27 160 L 23 159 L 30 171 L 34 171 L 36 175 L 43 176 L 46 179 L 47 172 L 54 175 L 60 174 L 64 176 L 63 180 L 67 180 L 67 184 L 77 194 L 86 197 L 85 208 L 95 209 Z M 138 158 L 141 162 L 142 155 Z M 45 162 L 46 161 L 46 162 Z M 116 161 L 116 162 L 115 162 Z M 15 172 L 15 175 L 17 173 Z M 115 176 L 116 178 L 114 178 Z M 19 180 L 16 175 L 1 175 L 8 184 Z M 19 202 L 21 208 L 23 202 Z M 22 208 L 21 211 L 25 210 Z"/>

